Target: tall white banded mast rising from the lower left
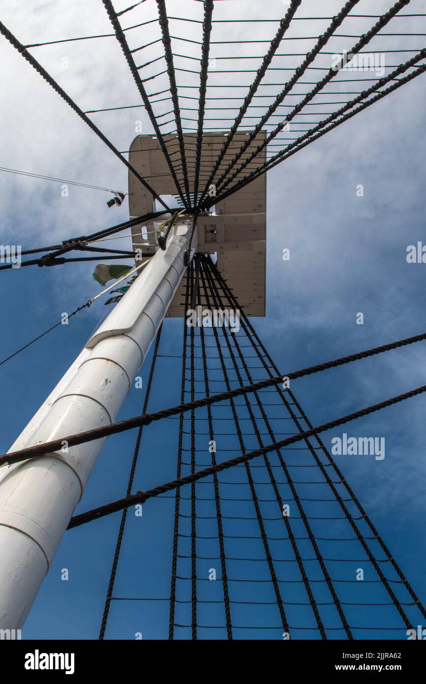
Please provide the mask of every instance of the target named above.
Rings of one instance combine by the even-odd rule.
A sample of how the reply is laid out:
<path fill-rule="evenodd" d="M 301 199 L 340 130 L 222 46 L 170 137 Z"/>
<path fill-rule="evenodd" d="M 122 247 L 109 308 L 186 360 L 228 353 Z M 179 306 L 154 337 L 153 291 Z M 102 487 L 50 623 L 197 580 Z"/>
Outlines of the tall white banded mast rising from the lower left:
<path fill-rule="evenodd" d="M 114 422 L 185 272 L 191 224 L 174 224 L 10 451 Z M 0 629 L 22 627 L 104 442 L 1 469 Z"/>

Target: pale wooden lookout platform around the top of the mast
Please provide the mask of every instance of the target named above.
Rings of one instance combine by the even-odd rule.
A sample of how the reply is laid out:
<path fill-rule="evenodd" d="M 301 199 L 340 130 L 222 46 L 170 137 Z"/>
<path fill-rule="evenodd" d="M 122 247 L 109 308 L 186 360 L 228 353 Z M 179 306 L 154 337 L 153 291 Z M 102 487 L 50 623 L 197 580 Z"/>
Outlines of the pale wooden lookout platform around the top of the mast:
<path fill-rule="evenodd" d="M 226 133 L 204 133 L 200 168 L 200 189 L 207 182 L 226 139 Z M 232 140 L 226 157 L 216 174 L 216 179 L 228 166 L 246 139 L 247 133 L 237 133 Z M 241 161 L 265 138 L 265 132 L 258 134 L 246 150 Z M 164 137 L 171 155 L 176 176 L 182 181 L 181 157 L 176 135 Z M 196 163 L 196 133 L 185 133 L 185 153 L 189 188 L 194 188 Z M 243 170 L 241 177 L 260 166 L 266 158 L 266 149 Z M 176 185 L 160 148 L 157 137 L 138 135 L 130 148 L 129 161 L 159 196 L 176 195 Z M 232 170 L 234 171 L 237 168 Z M 239 176 L 232 184 L 239 180 Z M 213 181 L 214 182 L 214 181 Z M 183 183 L 181 182 L 181 185 Z M 170 200 L 168 202 L 170 206 Z M 173 207 L 181 205 L 176 197 Z M 155 211 L 152 195 L 129 172 L 129 211 L 131 218 Z M 163 221 L 150 221 L 146 226 L 132 228 L 133 248 L 143 248 L 144 252 L 157 250 L 155 228 Z M 198 252 L 217 254 L 217 267 L 227 280 L 241 307 L 248 316 L 265 316 L 265 267 L 266 267 L 266 174 L 252 181 L 230 197 L 217 202 L 212 211 L 198 217 Z M 168 311 L 168 316 L 183 316 L 184 285 L 176 292 Z"/>

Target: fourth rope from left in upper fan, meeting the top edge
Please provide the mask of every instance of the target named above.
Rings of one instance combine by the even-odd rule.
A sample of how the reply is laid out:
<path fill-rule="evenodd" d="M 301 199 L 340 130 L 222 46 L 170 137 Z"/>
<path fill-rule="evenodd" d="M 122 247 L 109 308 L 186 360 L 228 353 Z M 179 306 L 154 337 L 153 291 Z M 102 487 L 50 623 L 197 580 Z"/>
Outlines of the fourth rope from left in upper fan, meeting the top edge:
<path fill-rule="evenodd" d="M 358 0 L 354 0 L 358 1 Z M 265 76 L 265 73 L 267 72 L 267 69 L 269 68 L 272 58 L 274 57 L 276 51 L 278 50 L 278 47 L 280 47 L 280 43 L 282 40 L 282 37 L 284 36 L 285 32 L 289 28 L 291 24 L 291 20 L 293 19 L 293 16 L 299 7 L 300 3 L 302 0 L 291 0 L 291 4 L 289 9 L 287 10 L 284 18 L 281 19 L 280 21 L 280 26 L 278 28 L 278 31 L 276 32 L 275 38 L 271 40 L 271 44 L 269 46 L 269 50 L 267 51 L 265 57 L 263 57 L 262 64 L 260 68 L 258 68 L 256 77 L 254 78 L 254 81 L 252 85 L 249 88 L 247 96 L 245 96 L 243 104 L 241 105 L 239 109 L 239 113 L 237 117 L 235 118 L 234 123 L 232 124 L 232 127 L 230 128 L 230 131 L 226 137 L 226 140 L 224 142 L 224 146 L 222 147 L 222 150 L 219 153 L 219 156 L 217 157 L 217 160 L 215 161 L 215 164 L 213 166 L 213 169 L 211 170 L 211 174 L 209 176 L 209 180 L 207 181 L 206 185 L 204 186 L 204 190 L 202 192 L 202 195 L 200 197 L 200 202 L 198 203 L 198 207 L 201 206 L 202 200 L 207 194 L 207 191 L 209 189 L 209 186 L 213 182 L 213 179 L 215 177 L 215 174 L 217 172 L 217 169 L 219 168 L 220 164 L 222 163 L 222 160 L 224 159 L 224 155 L 226 151 L 228 150 L 234 135 L 239 127 L 239 124 L 241 124 L 241 121 L 243 120 L 243 117 L 248 109 L 248 106 L 252 102 L 254 94 L 256 94 L 256 91 L 258 89 L 259 83 L 261 83 L 261 80 Z M 197 201 L 197 196 L 196 196 L 196 201 Z"/>

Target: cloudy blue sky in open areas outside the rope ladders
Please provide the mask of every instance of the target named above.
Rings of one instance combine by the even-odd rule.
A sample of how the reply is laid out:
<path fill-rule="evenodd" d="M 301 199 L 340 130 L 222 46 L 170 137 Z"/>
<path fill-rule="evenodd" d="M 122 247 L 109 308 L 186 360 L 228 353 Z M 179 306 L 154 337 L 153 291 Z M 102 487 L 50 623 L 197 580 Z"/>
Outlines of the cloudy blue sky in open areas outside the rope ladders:
<path fill-rule="evenodd" d="M 188 0 L 168 7 L 170 13 L 198 10 L 200 14 L 196 4 Z M 240 11 L 240 3 L 229 4 L 235 8 L 219 7 L 217 12 L 223 16 L 225 11 Z M 340 4 L 321 3 L 321 11 L 332 16 Z M 390 6 L 378 0 L 375 9 L 376 4 L 378 14 Z M 68 3 L 57 2 L 55 12 L 49 5 L 34 3 L 29 13 L 25 3 L 15 2 L 4 10 L 2 21 L 23 42 L 109 32 L 101 3 L 81 1 L 70 10 Z M 280 16 L 282 3 L 270 5 L 271 16 Z M 316 3 L 302 5 L 306 16 L 312 16 Z M 421 12 L 422 5 L 412 0 L 410 12 Z M 367 10 L 371 3 L 361 0 L 356 12 Z M 250 13 L 257 16 L 252 6 Z M 135 23 L 143 21 L 140 16 L 135 14 Z M 371 25 L 371 20 L 365 21 L 360 33 Z M 406 31 L 426 33 L 424 18 L 400 21 L 406 22 Z M 306 35 L 310 29 L 311 25 Z M 235 36 L 241 36 L 241 30 L 232 28 Z M 271 27 L 262 30 L 271 37 Z M 424 40 L 406 37 L 403 44 L 421 49 Z M 342 39 L 336 51 L 353 42 Z M 377 49 L 385 49 L 384 42 Z M 34 54 L 83 109 L 137 103 L 137 90 L 118 44 L 105 38 L 96 47 L 94 41 L 87 41 L 83 48 L 79 43 L 66 44 L 66 53 L 62 46 L 40 48 Z M 125 190 L 124 166 L 18 53 L 4 42 L 0 50 L 8 60 L 3 75 L 7 96 L 1 103 L 3 165 Z M 68 69 L 61 66 L 64 54 Z M 426 265 L 409 265 L 405 259 L 408 245 L 426 243 L 424 79 L 415 79 L 268 174 L 267 316 L 255 319 L 254 325 L 283 373 L 425 330 Z M 134 137 L 132 110 L 94 117 L 120 150 L 129 146 Z M 150 132 L 148 125 L 146 132 Z M 364 186 L 363 197 L 356 195 L 359 184 Z M 107 195 L 101 192 L 70 187 L 64 198 L 59 184 L 9 174 L 0 176 L 0 193 L 1 241 L 23 248 L 54 244 L 128 216 L 124 205 L 107 209 Z M 289 262 L 282 261 L 283 248 L 290 249 Z M 71 312 L 96 294 L 98 285 L 91 272 L 90 265 L 2 272 L 1 358 L 55 323 L 62 311 Z M 2 452 L 77 356 L 104 311 L 101 300 L 0 368 Z M 363 326 L 356 325 L 358 312 L 364 313 Z M 181 354 L 181 328 L 181 321 L 165 321 L 161 354 Z M 418 343 L 298 380 L 292 389 L 315 425 L 425 384 L 424 359 L 424 343 Z M 145 365 L 144 386 L 147 371 Z M 151 410 L 177 404 L 179 399 L 179 360 L 161 358 L 157 371 Z M 143 393 L 132 389 L 119 419 L 140 412 L 142 402 Z M 423 602 L 425 410 L 426 397 L 420 396 L 345 428 L 354 436 L 384 436 L 383 461 L 336 457 Z M 145 430 L 135 490 L 174 477 L 176 432 L 176 421 Z M 327 433 L 325 443 L 330 446 L 332 437 L 341 432 Z M 108 440 L 79 511 L 122 497 L 134 441 L 134 432 Z M 172 515 L 173 501 L 168 499 L 146 503 L 140 520 L 130 516 L 117 595 L 167 596 Z M 25 625 L 25 638 L 97 637 L 118 521 L 118 516 L 109 516 L 66 533 Z M 62 568 L 69 569 L 68 582 L 60 579 Z M 167 622 L 166 602 L 117 601 L 107 637 L 132 639 L 141 631 L 146 639 L 165 638 Z"/>

